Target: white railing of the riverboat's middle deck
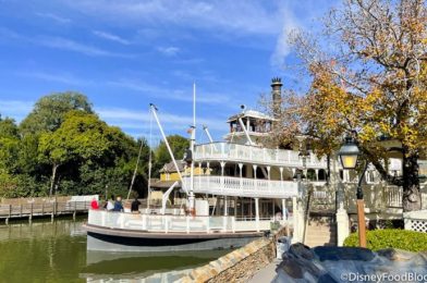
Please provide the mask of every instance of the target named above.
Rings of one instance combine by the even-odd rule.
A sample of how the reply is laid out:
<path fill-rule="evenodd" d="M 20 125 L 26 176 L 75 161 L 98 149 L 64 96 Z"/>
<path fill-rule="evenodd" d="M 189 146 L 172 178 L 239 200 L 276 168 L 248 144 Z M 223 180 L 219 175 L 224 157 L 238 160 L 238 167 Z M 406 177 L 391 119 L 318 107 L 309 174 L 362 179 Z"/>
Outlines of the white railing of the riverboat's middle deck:
<path fill-rule="evenodd" d="M 184 177 L 190 185 L 190 177 Z M 291 198 L 297 196 L 297 183 L 292 181 L 256 180 L 230 176 L 195 176 L 194 193 L 240 197 Z"/>

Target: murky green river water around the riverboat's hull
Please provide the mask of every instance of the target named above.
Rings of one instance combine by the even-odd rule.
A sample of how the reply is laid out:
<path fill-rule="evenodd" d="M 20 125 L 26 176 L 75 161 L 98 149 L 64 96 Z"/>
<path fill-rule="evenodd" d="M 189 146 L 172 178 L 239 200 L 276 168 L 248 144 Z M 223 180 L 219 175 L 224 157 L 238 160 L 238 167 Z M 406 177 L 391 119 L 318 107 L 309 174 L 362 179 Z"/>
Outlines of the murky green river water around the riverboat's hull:
<path fill-rule="evenodd" d="M 171 282 L 229 250 L 193 254 L 86 251 L 85 219 L 0 225 L 0 282 Z"/>

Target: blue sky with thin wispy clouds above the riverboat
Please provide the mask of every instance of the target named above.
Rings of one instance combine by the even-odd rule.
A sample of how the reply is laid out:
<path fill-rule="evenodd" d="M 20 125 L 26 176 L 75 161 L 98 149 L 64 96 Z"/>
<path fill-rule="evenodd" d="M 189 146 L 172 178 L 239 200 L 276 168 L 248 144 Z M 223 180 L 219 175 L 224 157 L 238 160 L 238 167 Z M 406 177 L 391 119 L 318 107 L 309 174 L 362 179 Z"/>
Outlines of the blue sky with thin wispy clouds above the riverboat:
<path fill-rule="evenodd" d="M 0 0 L 0 113 L 21 121 L 44 95 L 85 94 L 109 124 L 148 136 L 148 103 L 167 134 L 192 123 L 215 139 L 244 103 L 255 109 L 270 79 L 304 82 L 286 44 L 316 29 L 327 0 Z M 200 128 L 200 126 L 198 127 Z M 154 136 L 159 132 L 154 128 Z M 206 142 L 198 132 L 197 138 Z"/>

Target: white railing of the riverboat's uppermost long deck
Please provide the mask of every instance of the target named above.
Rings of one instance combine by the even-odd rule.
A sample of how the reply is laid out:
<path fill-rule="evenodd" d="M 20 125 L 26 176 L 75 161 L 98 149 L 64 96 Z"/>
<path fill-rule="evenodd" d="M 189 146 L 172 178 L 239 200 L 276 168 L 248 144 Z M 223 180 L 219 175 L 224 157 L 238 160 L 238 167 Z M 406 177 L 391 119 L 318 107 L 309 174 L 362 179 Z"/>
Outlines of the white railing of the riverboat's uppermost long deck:
<path fill-rule="evenodd" d="M 230 143 L 210 143 L 197 145 L 194 151 L 196 161 L 231 160 L 233 162 L 247 162 L 269 164 L 277 167 L 302 168 L 303 161 L 298 151 L 269 149 Z M 307 168 L 327 168 L 326 159 L 318 159 L 313 152 L 307 158 Z"/>

